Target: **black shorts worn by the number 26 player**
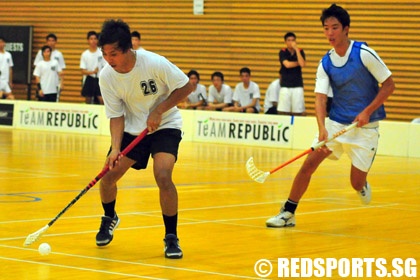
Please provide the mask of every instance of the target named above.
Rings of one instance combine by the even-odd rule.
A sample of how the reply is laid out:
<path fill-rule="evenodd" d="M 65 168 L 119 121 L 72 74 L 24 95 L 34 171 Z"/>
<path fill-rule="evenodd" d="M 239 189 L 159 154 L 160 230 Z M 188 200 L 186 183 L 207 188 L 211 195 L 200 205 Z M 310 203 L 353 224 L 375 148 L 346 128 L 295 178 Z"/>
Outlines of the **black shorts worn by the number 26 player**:
<path fill-rule="evenodd" d="M 124 132 L 123 140 L 121 142 L 121 151 L 125 149 L 136 136 Z M 146 169 L 150 155 L 152 157 L 156 153 L 168 153 L 174 155 L 175 161 L 178 158 L 178 148 L 181 142 L 181 130 L 165 128 L 158 130 L 152 134 L 146 135 L 126 156 L 136 163 L 132 168 Z M 109 150 L 111 152 L 111 149 Z"/>

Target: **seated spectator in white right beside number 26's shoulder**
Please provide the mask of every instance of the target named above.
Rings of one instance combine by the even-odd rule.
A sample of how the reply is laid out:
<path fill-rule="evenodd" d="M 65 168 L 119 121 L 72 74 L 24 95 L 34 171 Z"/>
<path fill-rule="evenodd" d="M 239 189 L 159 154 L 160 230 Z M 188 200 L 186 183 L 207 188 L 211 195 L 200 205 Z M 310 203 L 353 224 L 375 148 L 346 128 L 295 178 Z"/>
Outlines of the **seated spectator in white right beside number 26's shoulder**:
<path fill-rule="evenodd" d="M 196 70 L 191 70 L 187 74 L 190 79 L 190 84 L 193 87 L 193 91 L 188 95 L 187 98 L 180 104 L 180 109 L 203 109 L 207 106 L 207 92 L 206 87 L 200 84 L 200 74 Z"/>

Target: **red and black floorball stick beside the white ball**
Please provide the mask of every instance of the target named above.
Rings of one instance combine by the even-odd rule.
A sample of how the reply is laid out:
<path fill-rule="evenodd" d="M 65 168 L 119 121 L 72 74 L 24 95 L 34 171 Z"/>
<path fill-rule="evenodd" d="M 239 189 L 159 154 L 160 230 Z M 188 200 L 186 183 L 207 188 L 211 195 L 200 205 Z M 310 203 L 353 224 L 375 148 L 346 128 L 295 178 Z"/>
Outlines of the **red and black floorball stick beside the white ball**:
<path fill-rule="evenodd" d="M 147 128 L 143 130 L 139 136 L 137 136 L 122 152 L 121 155 L 125 156 L 128 152 L 130 152 L 134 146 L 136 146 L 146 135 L 147 135 Z M 63 215 L 73 204 L 75 204 L 85 193 L 87 193 L 90 188 L 92 188 L 102 177 L 105 176 L 106 173 L 109 171 L 109 166 L 105 166 L 102 171 L 96 175 L 95 179 L 90 181 L 90 183 L 66 206 L 54 219 L 52 219 L 47 225 L 43 228 L 31 233 L 26 237 L 25 242 L 23 243 L 24 246 L 29 246 L 35 241 L 37 241 L 42 234 L 44 234 L 48 228 L 50 228 L 60 217 Z"/>

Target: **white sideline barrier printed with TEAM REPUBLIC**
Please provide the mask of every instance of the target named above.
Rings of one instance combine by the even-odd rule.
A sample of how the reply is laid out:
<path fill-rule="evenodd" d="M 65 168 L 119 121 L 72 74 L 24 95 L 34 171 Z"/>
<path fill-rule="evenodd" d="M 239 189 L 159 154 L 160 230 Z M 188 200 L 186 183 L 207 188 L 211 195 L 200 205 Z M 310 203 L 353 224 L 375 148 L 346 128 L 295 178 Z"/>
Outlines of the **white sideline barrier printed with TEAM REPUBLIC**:
<path fill-rule="evenodd" d="M 317 133 L 315 117 L 181 110 L 183 140 L 304 150 Z M 0 100 L 0 128 L 109 135 L 100 105 Z M 381 121 L 378 155 L 420 157 L 420 124 Z"/>

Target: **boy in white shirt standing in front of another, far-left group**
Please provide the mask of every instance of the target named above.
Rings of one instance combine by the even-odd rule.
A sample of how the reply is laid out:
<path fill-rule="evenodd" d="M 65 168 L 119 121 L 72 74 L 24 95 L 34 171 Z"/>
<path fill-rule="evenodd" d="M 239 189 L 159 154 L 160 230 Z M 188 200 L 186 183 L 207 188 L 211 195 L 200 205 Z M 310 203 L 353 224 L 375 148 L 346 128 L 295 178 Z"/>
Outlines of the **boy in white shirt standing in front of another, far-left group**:
<path fill-rule="evenodd" d="M 47 102 L 57 102 L 57 94 L 62 70 L 57 60 L 51 59 L 52 49 L 50 46 L 43 46 L 41 49 L 43 60 L 35 66 L 34 76 L 38 87 L 38 100 Z"/>

